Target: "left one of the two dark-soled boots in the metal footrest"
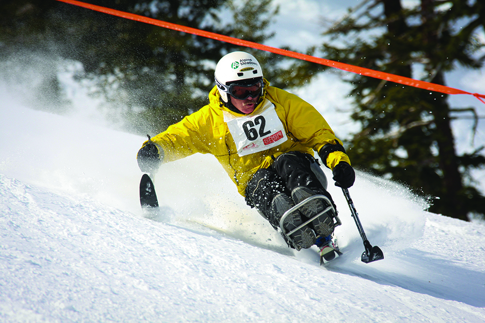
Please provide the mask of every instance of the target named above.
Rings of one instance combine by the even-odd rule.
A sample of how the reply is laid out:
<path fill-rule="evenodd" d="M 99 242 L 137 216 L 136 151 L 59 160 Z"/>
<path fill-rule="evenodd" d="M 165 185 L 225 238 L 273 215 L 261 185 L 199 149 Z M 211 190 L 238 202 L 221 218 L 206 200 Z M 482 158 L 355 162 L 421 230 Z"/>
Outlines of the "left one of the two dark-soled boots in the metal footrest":
<path fill-rule="evenodd" d="M 315 244 L 315 232 L 307 223 L 303 224 L 302 215 L 288 195 L 281 193 L 275 196 L 271 202 L 271 215 L 273 221 L 279 221 L 285 240 L 296 250 L 308 249 Z"/>

